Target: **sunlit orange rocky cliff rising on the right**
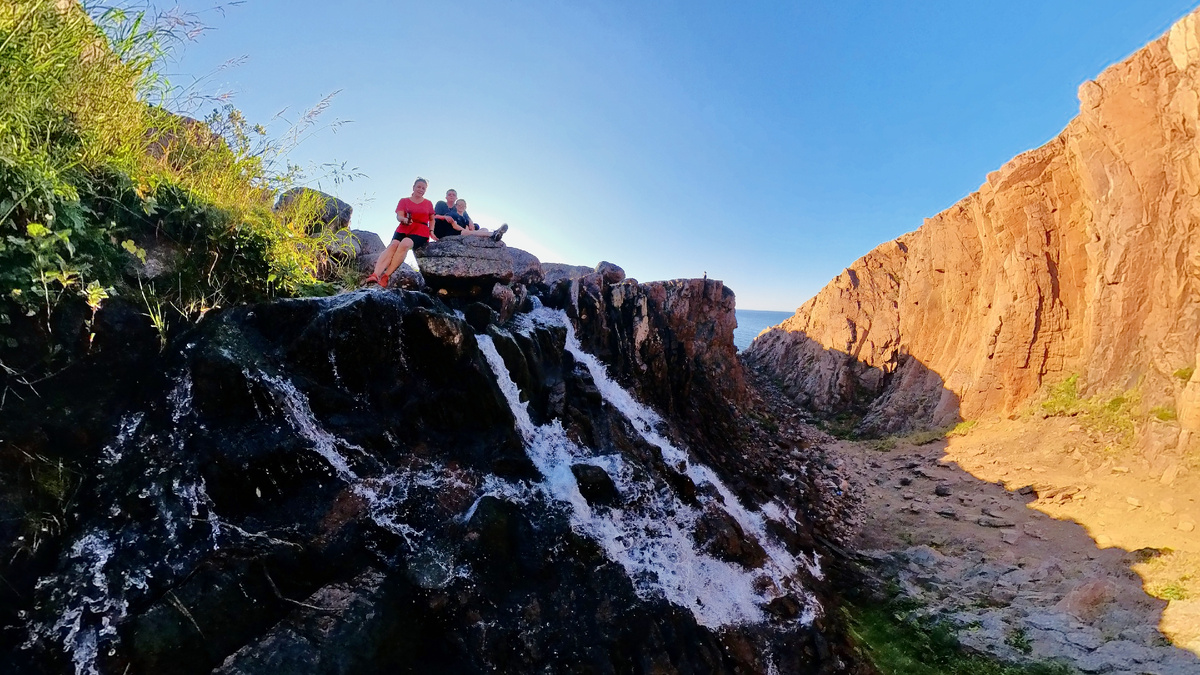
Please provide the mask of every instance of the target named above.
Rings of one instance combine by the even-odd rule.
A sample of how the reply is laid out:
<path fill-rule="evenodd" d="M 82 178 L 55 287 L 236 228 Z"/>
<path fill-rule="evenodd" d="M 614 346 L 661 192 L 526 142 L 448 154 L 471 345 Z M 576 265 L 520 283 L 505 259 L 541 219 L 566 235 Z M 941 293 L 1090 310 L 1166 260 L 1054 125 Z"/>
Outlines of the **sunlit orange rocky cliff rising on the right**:
<path fill-rule="evenodd" d="M 1200 425 L 1200 14 L 1079 88 L 1054 141 L 847 268 L 748 357 L 863 431 L 1012 412 L 1079 374 Z M 1183 370 L 1183 375 L 1188 371 Z"/>

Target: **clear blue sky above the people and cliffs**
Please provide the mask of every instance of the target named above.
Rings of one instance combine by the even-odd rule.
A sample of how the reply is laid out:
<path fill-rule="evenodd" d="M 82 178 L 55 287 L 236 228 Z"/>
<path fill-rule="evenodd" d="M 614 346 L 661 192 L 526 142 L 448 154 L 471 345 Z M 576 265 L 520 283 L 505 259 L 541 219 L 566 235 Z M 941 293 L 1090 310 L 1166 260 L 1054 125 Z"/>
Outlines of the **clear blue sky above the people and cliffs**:
<path fill-rule="evenodd" d="M 366 175 L 320 180 L 356 228 L 390 237 L 422 175 L 544 262 L 707 273 L 791 311 L 1056 136 L 1082 82 L 1195 5 L 182 0 L 211 30 L 170 70 L 252 121 L 340 91 L 322 120 L 347 124 L 293 161 Z"/>

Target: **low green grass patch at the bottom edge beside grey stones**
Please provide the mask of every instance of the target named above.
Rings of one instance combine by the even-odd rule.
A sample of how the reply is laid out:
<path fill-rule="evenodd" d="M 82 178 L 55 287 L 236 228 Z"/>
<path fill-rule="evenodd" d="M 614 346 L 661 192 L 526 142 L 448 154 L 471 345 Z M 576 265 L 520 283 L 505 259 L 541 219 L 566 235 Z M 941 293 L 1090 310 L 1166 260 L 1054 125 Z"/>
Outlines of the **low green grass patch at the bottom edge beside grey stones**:
<path fill-rule="evenodd" d="M 846 610 L 851 635 L 860 652 L 883 675 L 1069 675 L 1061 663 L 1014 665 L 966 653 L 943 623 L 901 619 L 894 605 L 852 605 Z M 1016 633 L 1009 635 L 1014 640 Z M 1024 634 L 1028 649 L 1028 639 Z M 1012 643 L 1010 643 L 1012 644 Z M 1018 647 L 1020 649 L 1020 647 Z M 1022 650 L 1026 651 L 1026 650 Z"/>

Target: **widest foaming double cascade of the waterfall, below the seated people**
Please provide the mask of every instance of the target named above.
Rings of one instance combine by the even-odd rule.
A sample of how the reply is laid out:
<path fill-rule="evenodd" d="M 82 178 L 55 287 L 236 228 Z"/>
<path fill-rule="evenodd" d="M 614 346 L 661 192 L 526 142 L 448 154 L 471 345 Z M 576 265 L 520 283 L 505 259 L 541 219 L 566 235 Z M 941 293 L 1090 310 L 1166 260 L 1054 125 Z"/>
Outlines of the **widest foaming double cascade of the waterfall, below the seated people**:
<path fill-rule="evenodd" d="M 655 430 L 660 423 L 658 416 L 613 382 L 594 357 L 583 352 L 562 312 L 538 309 L 523 321 L 526 327 L 565 324 L 568 350 L 588 368 L 605 401 L 646 441 L 659 447 L 668 464 L 684 471 L 697 485 L 715 488 L 724 504 L 710 501 L 706 506 L 722 508 L 734 518 L 763 546 L 768 561 L 761 569 L 746 569 L 697 550 L 692 532 L 702 515 L 700 509 L 683 503 L 668 489 L 661 489 L 662 485 L 636 478 L 622 455 L 596 456 L 578 447 L 566 437 L 559 420 L 540 426 L 534 424 L 528 404 L 521 400 L 521 392 L 492 339 L 476 336 L 512 410 L 529 458 L 544 477 L 544 491 L 569 508 L 572 527 L 598 542 L 608 558 L 625 569 L 640 597 L 665 598 L 686 608 L 703 626 L 719 628 L 761 622 L 766 619 L 762 607 L 785 593 L 800 598 L 804 610 L 798 620 L 811 623 L 820 605 L 811 593 L 798 586 L 799 561 L 773 542 L 762 516 L 745 509 L 712 470 L 689 461 L 686 452 Z M 571 465 L 580 462 L 600 466 L 610 474 L 622 494 L 622 508 L 593 509 L 588 504 L 571 472 Z"/>

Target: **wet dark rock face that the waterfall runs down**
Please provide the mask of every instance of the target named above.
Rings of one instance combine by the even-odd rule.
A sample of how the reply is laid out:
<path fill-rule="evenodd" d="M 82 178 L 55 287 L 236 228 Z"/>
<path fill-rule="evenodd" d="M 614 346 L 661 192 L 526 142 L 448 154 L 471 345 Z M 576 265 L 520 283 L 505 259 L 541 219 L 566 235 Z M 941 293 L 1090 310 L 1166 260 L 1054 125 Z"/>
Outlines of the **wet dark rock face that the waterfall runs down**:
<path fill-rule="evenodd" d="M 703 461 L 734 435 L 700 408 L 745 387 L 732 293 L 602 279 L 574 283 L 577 329 L 505 287 L 504 327 L 372 289 L 212 312 L 161 352 L 100 333 L 53 408 L 0 418 L 0 669 L 857 671 L 803 510 L 745 520 L 773 497 L 647 431 L 718 434 Z M 606 538 L 614 508 L 644 525 Z M 728 587 L 696 604 L 664 551 Z"/>

